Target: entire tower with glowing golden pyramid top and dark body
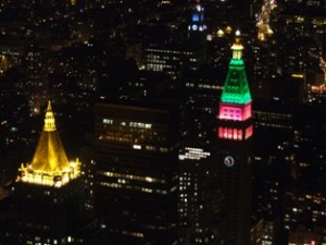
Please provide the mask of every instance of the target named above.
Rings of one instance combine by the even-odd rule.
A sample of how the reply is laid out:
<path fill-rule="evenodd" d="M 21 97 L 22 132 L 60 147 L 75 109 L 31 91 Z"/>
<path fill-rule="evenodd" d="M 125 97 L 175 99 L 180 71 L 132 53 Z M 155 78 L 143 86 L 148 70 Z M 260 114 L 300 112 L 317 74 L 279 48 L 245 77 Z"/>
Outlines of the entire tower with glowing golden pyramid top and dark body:
<path fill-rule="evenodd" d="M 82 243 L 83 193 L 80 162 L 67 160 L 49 102 L 34 158 L 18 170 L 12 244 Z"/>

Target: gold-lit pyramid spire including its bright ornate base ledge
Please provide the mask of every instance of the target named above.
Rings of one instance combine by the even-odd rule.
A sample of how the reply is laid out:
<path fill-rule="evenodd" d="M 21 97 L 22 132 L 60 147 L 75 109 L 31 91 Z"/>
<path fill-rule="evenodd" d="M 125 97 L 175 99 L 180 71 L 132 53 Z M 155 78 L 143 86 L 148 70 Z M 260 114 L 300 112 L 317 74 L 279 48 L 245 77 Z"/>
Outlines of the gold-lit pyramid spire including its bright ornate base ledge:
<path fill-rule="evenodd" d="M 68 162 L 59 137 L 51 102 L 49 101 L 43 131 L 38 140 L 32 163 L 20 168 L 18 180 L 45 185 L 61 186 L 80 174 L 80 162 Z M 61 184 L 58 184 L 61 183 Z"/>

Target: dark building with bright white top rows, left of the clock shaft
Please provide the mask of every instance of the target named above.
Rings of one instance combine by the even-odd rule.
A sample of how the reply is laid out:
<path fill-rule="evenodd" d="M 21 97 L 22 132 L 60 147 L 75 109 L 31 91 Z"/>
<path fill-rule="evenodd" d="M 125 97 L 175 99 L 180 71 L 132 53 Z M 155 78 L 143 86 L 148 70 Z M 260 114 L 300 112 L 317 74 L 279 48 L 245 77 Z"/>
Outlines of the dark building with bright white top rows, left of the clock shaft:
<path fill-rule="evenodd" d="M 185 147 L 179 155 L 180 244 L 223 244 L 223 197 L 211 174 L 214 161 L 209 151 Z"/>

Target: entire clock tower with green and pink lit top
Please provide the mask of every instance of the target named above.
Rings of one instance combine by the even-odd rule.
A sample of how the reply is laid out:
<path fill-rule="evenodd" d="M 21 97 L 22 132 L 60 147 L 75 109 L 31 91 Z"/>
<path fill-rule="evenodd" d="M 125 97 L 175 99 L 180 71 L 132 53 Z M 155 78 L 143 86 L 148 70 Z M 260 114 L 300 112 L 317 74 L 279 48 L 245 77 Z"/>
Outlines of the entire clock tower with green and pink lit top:
<path fill-rule="evenodd" d="M 227 240 L 250 242 L 251 138 L 253 122 L 251 95 L 242 60 L 243 46 L 236 39 L 217 115 L 216 177 L 224 196 Z"/>

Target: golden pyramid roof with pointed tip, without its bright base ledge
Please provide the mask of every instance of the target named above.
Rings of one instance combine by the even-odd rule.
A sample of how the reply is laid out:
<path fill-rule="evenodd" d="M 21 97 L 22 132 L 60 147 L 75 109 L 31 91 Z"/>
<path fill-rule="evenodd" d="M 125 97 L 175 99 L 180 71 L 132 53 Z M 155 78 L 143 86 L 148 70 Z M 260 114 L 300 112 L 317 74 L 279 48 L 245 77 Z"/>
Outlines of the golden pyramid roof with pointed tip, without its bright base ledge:
<path fill-rule="evenodd" d="M 50 101 L 46 112 L 43 131 L 29 168 L 45 173 L 62 172 L 70 168 L 70 162 L 55 127 Z"/>

